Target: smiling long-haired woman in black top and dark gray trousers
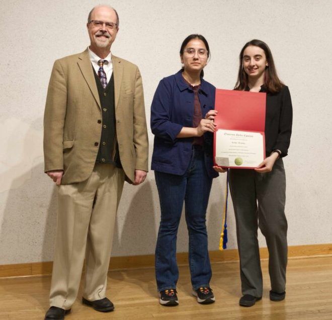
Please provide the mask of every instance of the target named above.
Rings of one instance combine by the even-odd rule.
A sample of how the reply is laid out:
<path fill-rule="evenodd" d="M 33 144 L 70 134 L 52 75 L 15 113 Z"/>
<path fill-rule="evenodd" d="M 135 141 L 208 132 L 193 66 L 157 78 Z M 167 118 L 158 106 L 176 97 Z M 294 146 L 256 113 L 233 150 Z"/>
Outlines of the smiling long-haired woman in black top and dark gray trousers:
<path fill-rule="evenodd" d="M 286 178 L 282 158 L 287 155 L 292 131 L 292 102 L 279 79 L 271 50 L 261 40 L 247 42 L 239 56 L 234 90 L 266 92 L 266 158 L 254 170 L 230 169 L 243 296 L 239 304 L 252 306 L 262 298 L 258 227 L 269 250 L 270 299 L 285 298 L 287 266 Z M 210 117 L 213 119 L 213 116 Z M 215 168 L 223 172 L 221 168 Z"/>

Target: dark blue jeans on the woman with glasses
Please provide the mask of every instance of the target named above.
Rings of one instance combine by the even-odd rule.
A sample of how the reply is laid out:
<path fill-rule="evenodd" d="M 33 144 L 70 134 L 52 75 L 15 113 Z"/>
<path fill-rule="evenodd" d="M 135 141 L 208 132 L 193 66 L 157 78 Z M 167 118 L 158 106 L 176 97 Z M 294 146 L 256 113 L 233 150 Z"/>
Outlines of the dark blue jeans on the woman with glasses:
<path fill-rule="evenodd" d="M 209 286 L 212 276 L 205 224 L 212 178 L 207 174 L 204 151 L 193 147 L 192 157 L 183 176 L 154 172 L 158 189 L 161 219 L 155 248 L 155 275 L 158 291 L 176 288 L 177 233 L 183 203 L 189 233 L 189 267 L 191 283 L 196 290 Z"/>

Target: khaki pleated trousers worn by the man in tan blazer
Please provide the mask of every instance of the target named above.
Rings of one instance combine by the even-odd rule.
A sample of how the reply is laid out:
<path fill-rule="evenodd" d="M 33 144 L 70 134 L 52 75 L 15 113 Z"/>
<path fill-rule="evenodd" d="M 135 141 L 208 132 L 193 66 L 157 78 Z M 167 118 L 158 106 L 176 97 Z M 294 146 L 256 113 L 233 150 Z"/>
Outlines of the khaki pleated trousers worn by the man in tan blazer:
<path fill-rule="evenodd" d="M 76 299 L 84 259 L 83 296 L 105 297 L 116 211 L 124 172 L 96 164 L 86 181 L 60 185 L 50 305 L 69 309 Z"/>

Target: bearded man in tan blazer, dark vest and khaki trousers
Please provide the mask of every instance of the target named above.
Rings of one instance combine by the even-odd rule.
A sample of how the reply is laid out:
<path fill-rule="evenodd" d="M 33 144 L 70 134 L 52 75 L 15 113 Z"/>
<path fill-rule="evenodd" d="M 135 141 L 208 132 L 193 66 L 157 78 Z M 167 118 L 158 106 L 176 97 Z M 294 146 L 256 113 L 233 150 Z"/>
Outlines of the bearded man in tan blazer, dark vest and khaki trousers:
<path fill-rule="evenodd" d="M 82 302 L 114 309 L 105 292 L 116 211 L 124 180 L 139 185 L 148 168 L 141 75 L 110 52 L 118 14 L 97 6 L 87 28 L 89 48 L 55 61 L 47 93 L 45 172 L 58 185 L 59 212 L 45 319 L 70 311 L 84 260 Z"/>

